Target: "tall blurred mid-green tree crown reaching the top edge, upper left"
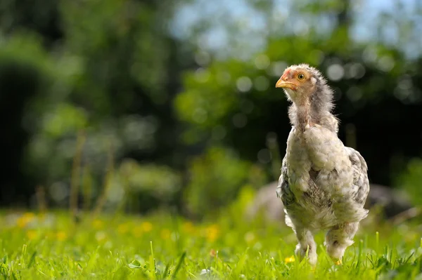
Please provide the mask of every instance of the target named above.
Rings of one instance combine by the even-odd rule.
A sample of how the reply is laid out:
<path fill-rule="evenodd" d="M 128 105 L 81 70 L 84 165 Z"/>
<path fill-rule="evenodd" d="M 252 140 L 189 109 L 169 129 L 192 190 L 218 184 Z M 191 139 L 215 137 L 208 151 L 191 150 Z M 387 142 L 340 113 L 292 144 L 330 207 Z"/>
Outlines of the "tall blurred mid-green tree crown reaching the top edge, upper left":
<path fill-rule="evenodd" d="M 162 81 L 169 55 L 164 30 L 155 25 L 155 6 L 107 0 L 85 1 L 82 6 L 63 1 L 61 8 L 67 51 L 84 65 L 75 97 L 94 116 L 122 114 L 122 109 L 133 107 L 139 102 L 136 86 L 157 104 L 167 100 Z"/>

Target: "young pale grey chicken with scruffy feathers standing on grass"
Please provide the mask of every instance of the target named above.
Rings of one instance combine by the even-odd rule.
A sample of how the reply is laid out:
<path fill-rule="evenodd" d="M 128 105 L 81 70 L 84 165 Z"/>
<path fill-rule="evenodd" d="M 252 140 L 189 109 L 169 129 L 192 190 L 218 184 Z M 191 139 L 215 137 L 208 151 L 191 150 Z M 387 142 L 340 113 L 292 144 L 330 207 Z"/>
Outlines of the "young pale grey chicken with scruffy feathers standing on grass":
<path fill-rule="evenodd" d="M 326 252 L 341 262 L 353 244 L 369 192 L 367 166 L 356 150 L 338 138 L 338 120 L 331 114 L 333 91 L 321 73 L 309 65 L 292 65 L 277 81 L 288 100 L 292 129 L 281 167 L 277 196 L 293 228 L 300 260 L 316 264 L 314 232 L 328 229 Z"/>

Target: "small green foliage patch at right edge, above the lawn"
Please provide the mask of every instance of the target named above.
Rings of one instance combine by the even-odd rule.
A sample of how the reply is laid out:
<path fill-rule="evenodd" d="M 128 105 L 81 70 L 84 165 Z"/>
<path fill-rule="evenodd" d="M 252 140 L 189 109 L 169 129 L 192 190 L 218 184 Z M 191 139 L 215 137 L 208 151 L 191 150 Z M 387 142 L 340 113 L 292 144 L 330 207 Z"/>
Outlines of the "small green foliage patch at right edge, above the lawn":
<path fill-rule="evenodd" d="M 405 189 L 414 205 L 422 205 L 422 159 L 411 159 L 395 185 Z"/>

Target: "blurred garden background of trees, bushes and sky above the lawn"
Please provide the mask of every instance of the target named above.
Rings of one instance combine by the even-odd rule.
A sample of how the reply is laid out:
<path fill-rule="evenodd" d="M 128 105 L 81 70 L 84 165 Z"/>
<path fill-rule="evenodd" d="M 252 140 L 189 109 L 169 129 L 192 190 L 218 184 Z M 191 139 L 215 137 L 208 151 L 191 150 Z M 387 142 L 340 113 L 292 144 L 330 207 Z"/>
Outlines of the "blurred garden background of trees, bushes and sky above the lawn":
<path fill-rule="evenodd" d="M 1 1 L 0 206 L 203 218 L 248 189 L 278 218 L 274 85 L 300 62 L 333 87 L 371 203 L 420 205 L 421 31 L 417 0 Z"/>

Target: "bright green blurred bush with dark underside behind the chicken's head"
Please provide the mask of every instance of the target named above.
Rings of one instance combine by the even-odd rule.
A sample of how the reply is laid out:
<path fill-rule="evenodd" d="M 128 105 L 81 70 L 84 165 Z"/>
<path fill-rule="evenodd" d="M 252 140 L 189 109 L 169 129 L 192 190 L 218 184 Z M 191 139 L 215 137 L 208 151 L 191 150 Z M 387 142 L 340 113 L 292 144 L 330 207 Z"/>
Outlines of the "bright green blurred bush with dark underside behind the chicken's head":
<path fill-rule="evenodd" d="M 338 7 L 331 9 L 337 11 Z M 184 142 L 224 145 L 238 152 L 243 160 L 268 164 L 259 153 L 271 133 L 277 137 L 282 157 L 290 131 L 288 101 L 274 85 L 288 65 L 305 62 L 321 70 L 333 88 L 341 140 L 346 145 L 356 143 L 345 133 L 351 124 L 358 129 L 356 148 L 369 165 L 389 168 L 389 159 L 381 161 L 370 148 L 373 142 L 382 142 L 388 135 L 378 133 L 378 140 L 374 140 L 373 135 L 369 136 L 371 127 L 388 122 L 398 129 L 395 116 L 409 112 L 402 104 L 421 104 L 416 86 L 419 79 L 413 78 L 416 72 L 409 67 L 416 67 L 417 63 L 406 62 L 404 54 L 390 46 L 358 44 L 345 27 L 335 26 L 327 36 L 316 36 L 313 32 L 317 28 L 310 26 L 309 36 L 268 36 L 264 48 L 247 58 L 233 55 L 225 60 L 215 59 L 186 72 L 184 91 L 174 102 L 177 116 L 186 123 Z M 409 113 L 409 118 L 413 117 L 416 118 L 414 113 Z M 410 151 L 400 138 L 395 143 L 394 152 L 416 152 Z M 416 145 L 416 140 L 412 145 Z M 385 145 L 382 149 L 393 148 Z M 369 172 L 373 182 L 388 185 L 388 172 L 381 168 L 369 168 Z"/>

